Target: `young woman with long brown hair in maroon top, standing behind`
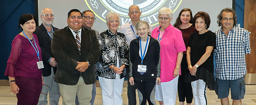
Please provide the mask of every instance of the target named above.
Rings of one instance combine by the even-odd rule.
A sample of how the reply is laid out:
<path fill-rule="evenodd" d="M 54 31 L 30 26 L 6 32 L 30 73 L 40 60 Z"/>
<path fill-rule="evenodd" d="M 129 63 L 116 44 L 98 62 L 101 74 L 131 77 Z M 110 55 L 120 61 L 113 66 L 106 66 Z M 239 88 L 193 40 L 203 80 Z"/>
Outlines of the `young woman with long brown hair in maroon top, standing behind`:
<path fill-rule="evenodd" d="M 179 13 L 176 22 L 174 23 L 174 27 L 181 30 L 183 41 L 187 48 L 188 41 L 190 38 L 190 34 L 197 32 L 196 28 L 192 25 L 193 16 L 192 11 L 189 8 L 184 8 Z M 183 58 L 181 61 L 181 75 L 179 76 L 178 80 L 178 95 L 180 105 L 184 105 L 184 101 L 186 98 L 187 105 L 191 105 L 193 100 L 193 93 L 191 82 L 185 82 L 186 75 L 191 75 L 190 71 L 187 67 L 187 52 L 183 52 Z"/>

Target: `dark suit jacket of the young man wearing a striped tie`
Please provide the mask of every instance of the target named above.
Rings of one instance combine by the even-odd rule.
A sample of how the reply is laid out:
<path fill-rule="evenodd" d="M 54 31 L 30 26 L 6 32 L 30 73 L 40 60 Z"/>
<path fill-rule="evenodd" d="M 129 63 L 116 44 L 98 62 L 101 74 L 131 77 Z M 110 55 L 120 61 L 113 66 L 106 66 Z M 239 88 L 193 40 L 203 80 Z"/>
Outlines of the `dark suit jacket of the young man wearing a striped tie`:
<path fill-rule="evenodd" d="M 82 28 L 80 53 L 69 27 L 57 30 L 53 33 L 51 49 L 55 60 L 58 62 L 55 81 L 65 85 L 76 85 L 80 72 L 75 69 L 77 61 L 89 61 L 90 66 L 82 76 L 85 84 L 96 82 L 95 63 L 99 60 L 100 44 L 96 38 L 95 31 Z M 81 55 L 80 55 L 81 54 Z"/>

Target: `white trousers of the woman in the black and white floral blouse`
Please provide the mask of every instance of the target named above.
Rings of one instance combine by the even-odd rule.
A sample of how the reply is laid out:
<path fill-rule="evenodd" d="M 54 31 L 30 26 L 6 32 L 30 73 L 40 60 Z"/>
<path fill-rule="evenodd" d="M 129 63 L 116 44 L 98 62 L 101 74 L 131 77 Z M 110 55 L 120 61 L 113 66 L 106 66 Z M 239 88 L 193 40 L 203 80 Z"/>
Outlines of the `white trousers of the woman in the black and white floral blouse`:
<path fill-rule="evenodd" d="M 123 105 L 123 81 L 119 74 L 116 74 L 116 79 L 99 77 L 103 105 Z"/>

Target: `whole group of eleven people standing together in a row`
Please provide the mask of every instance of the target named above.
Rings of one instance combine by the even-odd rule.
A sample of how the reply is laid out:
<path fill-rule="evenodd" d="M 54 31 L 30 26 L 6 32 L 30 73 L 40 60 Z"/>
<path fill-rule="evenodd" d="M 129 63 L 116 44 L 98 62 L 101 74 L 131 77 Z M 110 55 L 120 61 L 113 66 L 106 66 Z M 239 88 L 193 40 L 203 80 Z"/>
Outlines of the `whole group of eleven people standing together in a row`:
<path fill-rule="evenodd" d="M 162 7 L 160 26 L 153 30 L 139 19 L 141 13 L 130 6 L 131 20 L 119 29 L 120 15 L 107 13 L 108 29 L 100 34 L 91 28 L 96 18 L 90 10 L 70 10 L 63 29 L 52 26 L 50 8 L 42 10 L 37 28 L 33 15 L 22 15 L 23 32 L 12 42 L 5 72 L 18 104 L 47 104 L 49 92 L 50 104 L 58 104 L 61 96 L 63 105 L 93 105 L 96 76 L 104 105 L 123 104 L 125 76 L 129 105 L 136 105 L 136 89 L 140 105 L 156 105 L 155 100 L 174 105 L 177 91 L 181 105 L 185 99 L 190 105 L 193 97 L 195 105 L 206 105 L 206 88 L 216 91 L 222 105 L 229 104 L 231 88 L 233 104 L 242 104 L 245 54 L 251 49 L 248 31 L 235 27 L 233 9 L 220 12 L 216 32 L 208 30 L 210 16 L 203 11 L 193 18 L 184 8 L 172 26 L 172 10 Z"/>

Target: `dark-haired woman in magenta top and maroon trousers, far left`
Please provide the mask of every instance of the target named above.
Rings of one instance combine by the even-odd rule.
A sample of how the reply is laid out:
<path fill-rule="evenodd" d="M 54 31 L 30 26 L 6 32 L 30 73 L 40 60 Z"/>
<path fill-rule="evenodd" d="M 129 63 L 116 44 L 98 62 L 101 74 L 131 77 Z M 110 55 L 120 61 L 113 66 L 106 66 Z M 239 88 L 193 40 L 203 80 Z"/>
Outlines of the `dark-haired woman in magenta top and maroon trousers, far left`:
<path fill-rule="evenodd" d="M 17 105 L 37 105 L 42 89 L 42 54 L 37 36 L 34 16 L 23 14 L 19 19 L 23 31 L 11 44 L 5 76 L 9 77 L 11 91 L 16 94 Z"/>

